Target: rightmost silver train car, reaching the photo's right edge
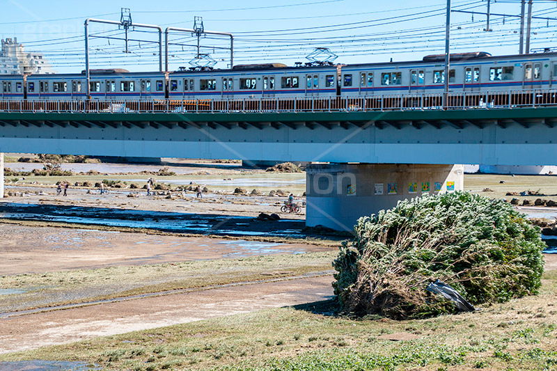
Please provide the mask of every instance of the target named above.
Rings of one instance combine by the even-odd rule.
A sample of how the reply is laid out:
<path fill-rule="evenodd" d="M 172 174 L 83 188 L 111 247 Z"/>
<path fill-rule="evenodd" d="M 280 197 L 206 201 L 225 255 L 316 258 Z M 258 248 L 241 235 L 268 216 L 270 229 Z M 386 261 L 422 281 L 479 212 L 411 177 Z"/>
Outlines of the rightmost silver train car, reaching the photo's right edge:
<path fill-rule="evenodd" d="M 444 55 L 422 61 L 345 65 L 340 94 L 441 93 Z M 500 91 L 551 88 L 557 84 L 557 53 L 491 56 L 485 52 L 451 54 L 450 91 Z"/>

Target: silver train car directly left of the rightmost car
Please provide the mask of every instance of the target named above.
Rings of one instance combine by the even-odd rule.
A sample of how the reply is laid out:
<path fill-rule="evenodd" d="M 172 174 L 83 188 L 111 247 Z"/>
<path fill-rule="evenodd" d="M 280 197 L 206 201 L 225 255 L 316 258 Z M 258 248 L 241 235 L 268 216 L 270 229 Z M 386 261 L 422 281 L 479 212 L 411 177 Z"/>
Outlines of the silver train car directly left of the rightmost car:
<path fill-rule="evenodd" d="M 168 74 L 171 99 L 335 96 L 336 66 L 287 67 L 281 63 L 235 65 L 230 70 Z"/>

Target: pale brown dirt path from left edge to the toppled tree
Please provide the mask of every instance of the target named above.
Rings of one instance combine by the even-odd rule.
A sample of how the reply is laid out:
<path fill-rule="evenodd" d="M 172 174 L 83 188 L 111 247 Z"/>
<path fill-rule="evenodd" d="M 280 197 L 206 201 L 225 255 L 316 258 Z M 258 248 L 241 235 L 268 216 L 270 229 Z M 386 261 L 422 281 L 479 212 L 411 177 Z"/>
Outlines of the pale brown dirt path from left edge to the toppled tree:
<path fill-rule="evenodd" d="M 331 298 L 332 276 L 149 297 L 0 319 L 0 354 Z"/>

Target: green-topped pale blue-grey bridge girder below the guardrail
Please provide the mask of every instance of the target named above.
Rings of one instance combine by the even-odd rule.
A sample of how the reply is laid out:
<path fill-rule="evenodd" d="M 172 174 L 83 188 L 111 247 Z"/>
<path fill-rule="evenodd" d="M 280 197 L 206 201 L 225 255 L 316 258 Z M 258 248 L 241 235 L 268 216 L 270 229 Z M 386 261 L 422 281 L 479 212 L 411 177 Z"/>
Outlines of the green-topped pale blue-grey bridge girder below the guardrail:
<path fill-rule="evenodd" d="M 0 152 L 552 165 L 557 108 L 336 113 L 2 113 Z"/>

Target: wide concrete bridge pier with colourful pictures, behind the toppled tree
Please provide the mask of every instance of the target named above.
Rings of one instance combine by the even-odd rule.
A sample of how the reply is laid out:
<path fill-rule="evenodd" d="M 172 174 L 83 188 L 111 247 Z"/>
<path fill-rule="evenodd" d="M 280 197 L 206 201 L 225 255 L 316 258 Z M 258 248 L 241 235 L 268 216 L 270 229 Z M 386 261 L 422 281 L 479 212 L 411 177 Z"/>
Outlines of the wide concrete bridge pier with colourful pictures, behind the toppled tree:
<path fill-rule="evenodd" d="M 311 164 L 306 168 L 306 226 L 354 230 L 361 216 L 399 200 L 464 189 L 464 165 Z"/>

